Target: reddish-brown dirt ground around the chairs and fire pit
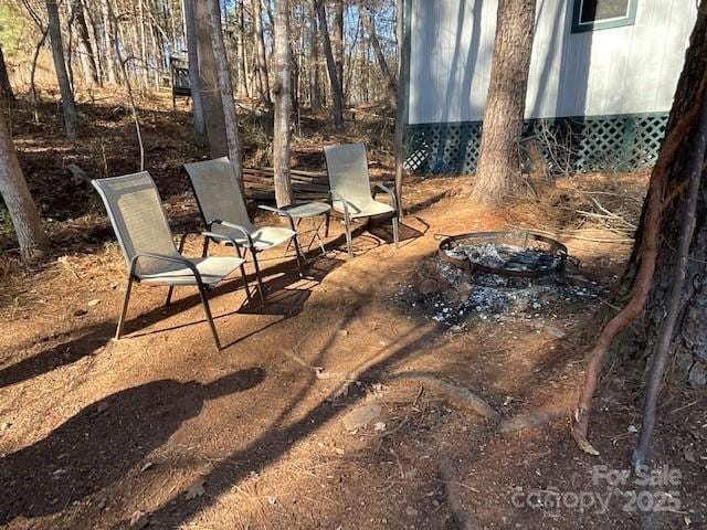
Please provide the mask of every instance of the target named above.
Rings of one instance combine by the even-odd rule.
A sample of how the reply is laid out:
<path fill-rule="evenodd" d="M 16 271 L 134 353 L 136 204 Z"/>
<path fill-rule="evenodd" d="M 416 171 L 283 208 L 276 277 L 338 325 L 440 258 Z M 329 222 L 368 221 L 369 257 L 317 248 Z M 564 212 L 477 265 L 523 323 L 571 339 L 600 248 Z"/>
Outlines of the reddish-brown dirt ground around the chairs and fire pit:
<path fill-rule="evenodd" d="M 178 232 L 198 226 L 198 214 L 178 173 L 188 134 L 170 137 L 165 124 L 186 118 L 159 116 L 162 140 L 148 167 Z M 126 119 L 116 127 L 127 135 Z M 119 157 L 107 126 L 95 127 L 85 149 L 99 152 L 103 142 Z M 125 265 L 92 192 L 61 180 L 77 151 L 62 158 L 66 146 L 45 129 L 24 123 L 15 132 L 30 186 L 45 214 L 62 211 L 67 197 L 81 208 L 55 214 L 43 265 L 21 268 L 4 243 L 0 526 L 707 528 L 704 394 L 666 390 L 653 452 L 654 469 L 665 473 L 652 485 L 621 475 L 641 409 L 618 367 L 591 425 L 601 455 L 580 453 L 569 436 L 600 300 L 453 331 L 402 296 L 436 250 L 436 234 L 567 227 L 562 198 L 578 187 L 611 189 L 635 213 L 645 176 L 557 183 L 539 191 L 553 198 L 550 206 L 520 198 L 505 212 L 469 202 L 468 178 L 411 182 L 400 248 L 381 222 L 355 232 L 349 258 L 337 222 L 327 256 L 313 248 L 304 277 L 282 250 L 264 255 L 265 305 L 246 303 L 238 280 L 215 289 L 226 344 L 217 351 L 187 287 L 165 308 L 166 288 L 138 286 L 127 337 L 112 339 Z M 107 167 L 117 171 L 119 158 Z M 612 289 L 630 244 L 585 241 L 618 237 L 599 224 L 578 226 L 581 235 L 558 237 L 582 275 Z M 187 252 L 199 248 L 193 237 Z M 431 377 L 475 392 L 499 421 Z M 367 425 L 347 430 L 352 412 L 368 415 Z"/>

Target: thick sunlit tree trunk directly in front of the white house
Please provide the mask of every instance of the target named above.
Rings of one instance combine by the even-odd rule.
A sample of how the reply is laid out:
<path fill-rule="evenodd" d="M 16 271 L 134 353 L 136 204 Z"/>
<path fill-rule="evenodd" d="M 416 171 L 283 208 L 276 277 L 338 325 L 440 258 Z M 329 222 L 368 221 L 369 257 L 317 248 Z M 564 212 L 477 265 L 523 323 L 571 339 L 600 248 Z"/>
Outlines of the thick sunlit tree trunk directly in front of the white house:
<path fill-rule="evenodd" d="M 535 4 L 536 0 L 498 2 L 481 156 L 472 191 L 484 202 L 503 201 L 520 171 L 518 140 L 523 135 Z"/>

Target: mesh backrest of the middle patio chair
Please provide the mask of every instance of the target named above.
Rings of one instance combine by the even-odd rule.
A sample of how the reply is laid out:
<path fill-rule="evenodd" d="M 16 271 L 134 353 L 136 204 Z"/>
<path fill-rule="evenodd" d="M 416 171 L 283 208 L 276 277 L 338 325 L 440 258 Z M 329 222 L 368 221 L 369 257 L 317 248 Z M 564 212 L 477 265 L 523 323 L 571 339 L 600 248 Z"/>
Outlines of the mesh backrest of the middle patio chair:
<path fill-rule="evenodd" d="M 191 189 L 207 227 L 213 221 L 228 221 L 252 230 L 241 187 L 228 157 L 184 163 Z"/>

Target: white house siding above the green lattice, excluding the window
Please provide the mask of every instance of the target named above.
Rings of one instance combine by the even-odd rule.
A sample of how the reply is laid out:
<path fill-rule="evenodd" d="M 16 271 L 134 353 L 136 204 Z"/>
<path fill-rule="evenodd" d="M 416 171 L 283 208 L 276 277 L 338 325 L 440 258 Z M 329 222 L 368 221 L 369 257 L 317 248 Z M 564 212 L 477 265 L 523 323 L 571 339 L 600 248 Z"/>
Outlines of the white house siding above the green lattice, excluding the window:
<path fill-rule="evenodd" d="M 479 121 L 497 0 L 408 0 L 408 123 Z M 571 0 L 538 0 L 526 117 L 669 110 L 696 18 L 692 0 L 637 0 L 633 25 L 572 33 Z"/>

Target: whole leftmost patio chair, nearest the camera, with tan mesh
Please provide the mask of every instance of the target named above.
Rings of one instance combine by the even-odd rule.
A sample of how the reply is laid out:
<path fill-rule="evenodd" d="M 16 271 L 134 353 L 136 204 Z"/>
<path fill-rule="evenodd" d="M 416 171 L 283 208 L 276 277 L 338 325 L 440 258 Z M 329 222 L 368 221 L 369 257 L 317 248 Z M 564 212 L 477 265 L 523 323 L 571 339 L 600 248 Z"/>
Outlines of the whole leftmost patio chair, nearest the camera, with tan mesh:
<path fill-rule="evenodd" d="M 130 299 L 133 282 L 169 286 L 166 305 L 169 306 L 175 287 L 196 285 L 217 348 L 221 349 L 208 292 L 236 268 L 241 269 L 247 299 L 251 293 L 245 282 L 245 259 L 236 257 L 184 257 L 182 250 L 187 235 L 175 246 L 167 216 L 157 188 L 147 171 L 108 179 L 92 180 L 108 211 L 110 224 L 118 239 L 123 257 L 128 266 L 128 285 L 125 289 L 123 309 L 118 318 L 115 338 L 123 335 L 123 325 Z M 203 233 L 209 237 L 208 233 Z"/>

